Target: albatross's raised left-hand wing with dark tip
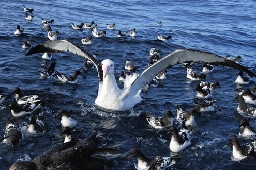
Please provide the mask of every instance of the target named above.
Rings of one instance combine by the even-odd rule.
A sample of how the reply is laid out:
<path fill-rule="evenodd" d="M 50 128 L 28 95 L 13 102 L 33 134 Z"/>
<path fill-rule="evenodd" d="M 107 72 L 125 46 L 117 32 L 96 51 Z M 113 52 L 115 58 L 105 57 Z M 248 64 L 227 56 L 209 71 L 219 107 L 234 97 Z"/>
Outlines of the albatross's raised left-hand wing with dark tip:
<path fill-rule="evenodd" d="M 101 63 L 95 59 L 91 54 L 85 52 L 81 47 L 77 46 L 76 44 L 71 43 L 68 40 L 57 40 L 57 41 L 49 41 L 43 44 L 39 44 L 29 50 L 27 52 L 26 56 L 32 55 L 35 53 L 59 53 L 59 52 L 70 52 L 75 55 L 87 58 L 89 61 L 91 61 L 97 71 L 99 76 L 99 82 L 103 79 L 103 71 L 101 68 Z"/>

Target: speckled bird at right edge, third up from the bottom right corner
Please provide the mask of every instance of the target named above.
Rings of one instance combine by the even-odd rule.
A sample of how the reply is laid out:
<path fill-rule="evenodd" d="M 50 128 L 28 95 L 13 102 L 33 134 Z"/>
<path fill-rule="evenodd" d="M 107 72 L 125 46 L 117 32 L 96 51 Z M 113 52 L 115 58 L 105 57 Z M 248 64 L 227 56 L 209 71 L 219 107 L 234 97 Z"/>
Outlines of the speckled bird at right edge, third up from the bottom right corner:
<path fill-rule="evenodd" d="M 256 117 L 256 108 L 247 106 L 242 96 L 240 95 L 236 96 L 234 101 L 238 101 L 238 107 L 236 109 L 238 113 L 240 114 L 245 113 L 250 116 Z"/>

